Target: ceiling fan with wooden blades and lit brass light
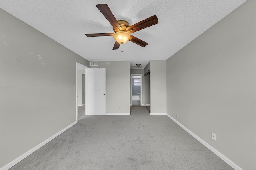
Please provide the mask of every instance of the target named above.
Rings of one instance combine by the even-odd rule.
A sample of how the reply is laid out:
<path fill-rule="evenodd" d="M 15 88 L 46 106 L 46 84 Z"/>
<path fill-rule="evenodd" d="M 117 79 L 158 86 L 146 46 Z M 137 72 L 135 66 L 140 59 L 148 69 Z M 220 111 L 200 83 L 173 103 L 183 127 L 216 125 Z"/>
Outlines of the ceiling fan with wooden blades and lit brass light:
<path fill-rule="evenodd" d="M 129 23 L 125 20 L 116 20 L 116 18 L 112 14 L 107 4 L 98 4 L 96 5 L 96 7 L 100 10 L 100 12 L 106 17 L 106 19 L 113 26 L 113 30 L 115 33 L 85 34 L 87 37 L 113 36 L 114 39 L 116 40 L 113 50 L 118 49 L 120 44 L 123 45 L 128 40 L 140 45 L 141 47 L 145 47 L 146 45 L 148 45 L 148 43 L 146 43 L 145 41 L 142 41 L 141 39 L 138 39 L 137 37 L 134 37 L 133 35 L 130 35 L 130 34 L 157 24 L 158 19 L 156 15 L 151 16 L 143 21 L 140 21 L 130 26 Z"/>

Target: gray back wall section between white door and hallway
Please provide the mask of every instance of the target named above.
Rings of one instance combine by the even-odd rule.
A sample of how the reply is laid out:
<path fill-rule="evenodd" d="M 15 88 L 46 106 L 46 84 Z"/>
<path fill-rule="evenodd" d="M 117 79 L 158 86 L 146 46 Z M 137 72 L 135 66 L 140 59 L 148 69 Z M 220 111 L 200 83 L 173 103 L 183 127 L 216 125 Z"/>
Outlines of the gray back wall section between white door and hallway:
<path fill-rule="evenodd" d="M 130 113 L 130 61 L 99 61 L 90 68 L 106 68 L 106 113 Z"/>

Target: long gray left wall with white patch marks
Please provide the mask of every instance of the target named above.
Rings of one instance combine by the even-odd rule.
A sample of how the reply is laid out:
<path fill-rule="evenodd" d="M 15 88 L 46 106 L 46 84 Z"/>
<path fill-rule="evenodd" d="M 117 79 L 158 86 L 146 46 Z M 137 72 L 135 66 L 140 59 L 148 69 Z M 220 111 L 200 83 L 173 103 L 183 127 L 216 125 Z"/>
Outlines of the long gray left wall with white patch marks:
<path fill-rule="evenodd" d="M 0 168 L 76 121 L 88 61 L 0 8 Z"/>

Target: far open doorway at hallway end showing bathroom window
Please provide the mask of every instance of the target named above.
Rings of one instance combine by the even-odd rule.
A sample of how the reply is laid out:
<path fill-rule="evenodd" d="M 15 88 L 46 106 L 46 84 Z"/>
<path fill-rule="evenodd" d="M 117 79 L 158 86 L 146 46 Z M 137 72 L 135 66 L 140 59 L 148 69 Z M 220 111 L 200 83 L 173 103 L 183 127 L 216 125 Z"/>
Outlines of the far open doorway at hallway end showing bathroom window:
<path fill-rule="evenodd" d="M 142 102 L 142 74 L 131 74 L 130 105 L 141 105 Z"/>

